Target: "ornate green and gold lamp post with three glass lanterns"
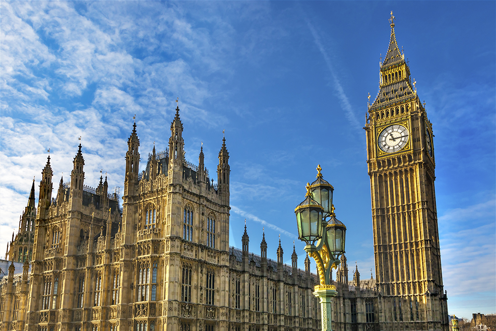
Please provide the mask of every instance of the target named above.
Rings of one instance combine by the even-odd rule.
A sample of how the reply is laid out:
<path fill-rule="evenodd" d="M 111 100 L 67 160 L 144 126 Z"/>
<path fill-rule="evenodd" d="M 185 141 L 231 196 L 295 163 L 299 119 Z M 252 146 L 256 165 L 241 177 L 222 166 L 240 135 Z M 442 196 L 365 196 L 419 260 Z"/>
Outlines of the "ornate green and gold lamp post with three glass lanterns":
<path fill-rule="evenodd" d="M 315 286 L 315 295 L 320 299 L 322 331 L 331 329 L 331 302 L 337 295 L 331 284 L 331 269 L 339 265 L 339 256 L 344 253 L 346 226 L 336 219 L 332 193 L 334 188 L 326 182 L 320 165 L 317 180 L 307 183 L 305 200 L 296 208 L 298 239 L 304 241 L 305 251 L 315 260 L 320 285 Z"/>

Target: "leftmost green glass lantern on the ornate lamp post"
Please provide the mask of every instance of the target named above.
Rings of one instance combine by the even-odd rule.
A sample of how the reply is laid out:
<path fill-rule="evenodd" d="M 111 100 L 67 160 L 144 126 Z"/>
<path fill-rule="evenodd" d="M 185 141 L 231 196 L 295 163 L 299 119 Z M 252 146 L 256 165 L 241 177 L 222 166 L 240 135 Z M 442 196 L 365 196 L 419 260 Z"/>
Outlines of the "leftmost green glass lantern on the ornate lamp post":
<path fill-rule="evenodd" d="M 307 183 L 307 195 L 296 208 L 296 220 L 298 223 L 298 239 L 307 245 L 313 245 L 315 241 L 322 238 L 322 206 L 311 198 L 310 183 Z"/>

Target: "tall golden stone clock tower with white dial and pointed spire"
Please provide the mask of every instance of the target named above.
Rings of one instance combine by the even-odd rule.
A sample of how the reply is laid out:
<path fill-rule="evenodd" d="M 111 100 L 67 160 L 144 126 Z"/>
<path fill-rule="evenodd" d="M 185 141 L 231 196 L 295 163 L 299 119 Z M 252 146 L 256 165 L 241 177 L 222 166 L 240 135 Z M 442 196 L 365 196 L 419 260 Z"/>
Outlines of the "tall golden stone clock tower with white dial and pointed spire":
<path fill-rule="evenodd" d="M 448 330 L 434 193 L 432 124 L 391 39 L 369 104 L 374 257 L 380 330 Z"/>

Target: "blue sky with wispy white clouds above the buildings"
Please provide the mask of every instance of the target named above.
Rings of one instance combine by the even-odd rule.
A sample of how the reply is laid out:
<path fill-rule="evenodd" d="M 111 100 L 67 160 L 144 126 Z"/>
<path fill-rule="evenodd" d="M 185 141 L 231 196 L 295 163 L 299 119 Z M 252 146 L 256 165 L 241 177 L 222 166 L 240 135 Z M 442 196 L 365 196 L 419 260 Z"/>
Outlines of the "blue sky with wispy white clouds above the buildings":
<path fill-rule="evenodd" d="M 136 114 L 140 153 L 167 147 L 179 97 L 186 159 L 215 174 L 226 131 L 231 245 L 247 219 L 290 262 L 294 207 L 317 164 L 347 225 L 349 265 L 373 270 L 362 127 L 378 91 L 388 18 L 434 128 L 436 202 L 450 314 L 496 312 L 495 2 L 2 1 L 0 247 L 51 149 L 68 181 L 82 137 L 85 184 L 123 187 Z M 215 177 L 214 177 L 215 178 Z M 3 245 L 3 246 L 2 246 Z M 373 270 L 375 274 L 375 271 Z M 350 277 L 352 275 L 350 274 Z"/>

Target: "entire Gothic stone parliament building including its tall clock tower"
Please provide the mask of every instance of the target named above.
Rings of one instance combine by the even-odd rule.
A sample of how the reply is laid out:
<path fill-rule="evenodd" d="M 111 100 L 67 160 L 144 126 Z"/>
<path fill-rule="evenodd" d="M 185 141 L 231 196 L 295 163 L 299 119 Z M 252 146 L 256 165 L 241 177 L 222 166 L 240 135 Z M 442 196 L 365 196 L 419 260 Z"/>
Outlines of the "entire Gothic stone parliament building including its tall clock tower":
<path fill-rule="evenodd" d="M 432 124 L 398 49 L 394 17 L 380 66 L 379 93 L 365 124 L 371 179 L 375 277 L 348 279 L 346 257 L 335 272 L 337 331 L 448 330 L 434 194 Z M 319 278 L 310 259 L 283 264 L 281 243 L 248 231 L 229 247 L 230 166 L 226 139 L 217 184 L 203 150 L 185 159 L 179 107 L 169 147 L 140 162 L 139 128 L 125 152 L 122 205 L 84 181 L 81 144 L 70 181 L 54 188 L 50 156 L 35 183 L 19 231 L 7 247 L 0 329 L 25 331 L 320 330 Z M 55 189 L 55 191 L 54 191 Z M 267 250 L 277 250 L 277 261 Z M 251 251 L 250 251 L 251 248 Z M 255 254 L 256 253 L 256 254 Z"/>

